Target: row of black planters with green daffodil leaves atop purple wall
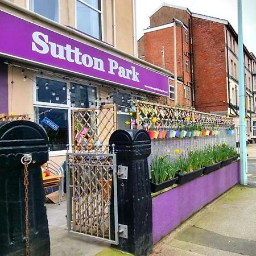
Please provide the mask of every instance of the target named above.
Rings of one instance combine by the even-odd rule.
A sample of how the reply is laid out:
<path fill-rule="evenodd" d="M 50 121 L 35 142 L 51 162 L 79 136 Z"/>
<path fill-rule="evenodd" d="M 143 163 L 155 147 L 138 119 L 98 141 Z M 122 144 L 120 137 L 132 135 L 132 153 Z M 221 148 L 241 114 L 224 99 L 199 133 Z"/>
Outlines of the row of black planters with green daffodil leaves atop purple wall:
<path fill-rule="evenodd" d="M 177 151 L 177 154 L 179 152 Z M 184 184 L 196 179 L 202 174 L 218 170 L 232 163 L 237 155 L 234 147 L 224 143 L 222 145 L 208 147 L 205 150 L 189 151 L 187 154 L 179 154 L 176 159 L 168 159 L 165 156 L 155 155 L 151 159 L 151 191 L 159 191 L 174 183 Z M 174 177 L 178 179 L 174 180 Z M 167 182 L 167 181 L 173 182 Z"/>

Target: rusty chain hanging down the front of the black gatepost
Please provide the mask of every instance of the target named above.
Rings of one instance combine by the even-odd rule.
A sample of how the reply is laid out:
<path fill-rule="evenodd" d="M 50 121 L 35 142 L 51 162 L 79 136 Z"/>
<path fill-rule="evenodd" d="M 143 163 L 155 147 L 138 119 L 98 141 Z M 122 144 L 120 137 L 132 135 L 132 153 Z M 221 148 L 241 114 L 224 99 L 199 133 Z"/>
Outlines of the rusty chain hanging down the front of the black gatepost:
<path fill-rule="evenodd" d="M 24 188 L 25 188 L 25 224 L 26 224 L 26 256 L 30 255 L 30 226 L 28 216 L 28 164 L 24 164 Z"/>

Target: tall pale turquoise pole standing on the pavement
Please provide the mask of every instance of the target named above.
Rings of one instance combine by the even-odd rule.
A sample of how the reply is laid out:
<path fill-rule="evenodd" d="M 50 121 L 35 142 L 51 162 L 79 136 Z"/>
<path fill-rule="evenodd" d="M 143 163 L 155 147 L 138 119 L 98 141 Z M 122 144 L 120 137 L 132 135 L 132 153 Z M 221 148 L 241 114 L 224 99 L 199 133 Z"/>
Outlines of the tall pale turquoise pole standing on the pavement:
<path fill-rule="evenodd" d="M 247 185 L 247 148 L 245 119 L 245 81 L 243 67 L 243 28 L 242 0 L 238 0 L 238 64 L 239 64 L 239 122 L 240 122 L 240 158 L 241 185 Z"/>

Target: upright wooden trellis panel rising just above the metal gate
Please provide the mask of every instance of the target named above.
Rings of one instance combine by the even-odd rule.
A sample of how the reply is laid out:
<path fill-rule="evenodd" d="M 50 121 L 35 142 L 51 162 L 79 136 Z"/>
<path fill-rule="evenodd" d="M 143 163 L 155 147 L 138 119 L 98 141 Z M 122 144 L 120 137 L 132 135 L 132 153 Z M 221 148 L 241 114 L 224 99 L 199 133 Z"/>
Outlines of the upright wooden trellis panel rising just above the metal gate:
<path fill-rule="evenodd" d="M 115 105 L 73 111 L 73 150 L 106 151 L 110 135 L 117 129 Z"/>

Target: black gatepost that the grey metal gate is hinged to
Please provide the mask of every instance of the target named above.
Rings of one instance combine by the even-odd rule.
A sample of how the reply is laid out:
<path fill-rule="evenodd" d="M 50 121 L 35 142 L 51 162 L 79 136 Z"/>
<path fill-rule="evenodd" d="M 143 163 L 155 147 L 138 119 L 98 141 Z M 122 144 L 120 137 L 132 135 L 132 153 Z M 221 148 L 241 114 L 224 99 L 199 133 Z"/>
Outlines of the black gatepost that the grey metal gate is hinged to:
<path fill-rule="evenodd" d="M 117 181 L 118 224 L 127 225 L 128 236 L 119 237 L 119 245 L 115 247 L 134 255 L 148 255 L 152 252 L 152 199 L 147 163 L 151 154 L 150 137 L 144 130 L 117 130 L 109 144 L 115 144 L 117 165 L 128 167 L 127 179 Z"/>

